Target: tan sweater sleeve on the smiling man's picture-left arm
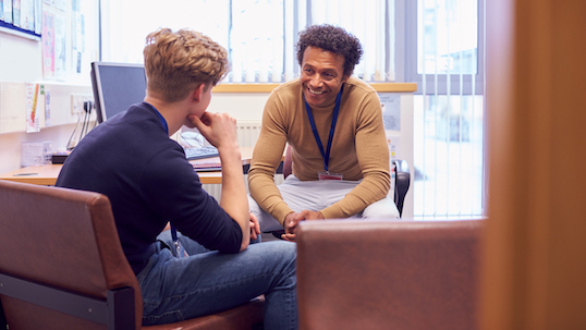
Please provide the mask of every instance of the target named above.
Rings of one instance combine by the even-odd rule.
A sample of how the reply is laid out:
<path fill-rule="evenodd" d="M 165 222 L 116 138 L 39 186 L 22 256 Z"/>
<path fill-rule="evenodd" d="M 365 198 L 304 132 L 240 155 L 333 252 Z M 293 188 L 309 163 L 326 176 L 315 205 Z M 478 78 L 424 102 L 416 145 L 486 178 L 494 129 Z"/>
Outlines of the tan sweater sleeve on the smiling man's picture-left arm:
<path fill-rule="evenodd" d="M 281 162 L 286 144 L 286 120 L 278 95 L 272 93 L 263 113 L 263 127 L 258 135 L 253 161 L 248 171 L 251 196 L 281 224 L 293 210 L 284 203 L 277 185 L 274 171 Z"/>

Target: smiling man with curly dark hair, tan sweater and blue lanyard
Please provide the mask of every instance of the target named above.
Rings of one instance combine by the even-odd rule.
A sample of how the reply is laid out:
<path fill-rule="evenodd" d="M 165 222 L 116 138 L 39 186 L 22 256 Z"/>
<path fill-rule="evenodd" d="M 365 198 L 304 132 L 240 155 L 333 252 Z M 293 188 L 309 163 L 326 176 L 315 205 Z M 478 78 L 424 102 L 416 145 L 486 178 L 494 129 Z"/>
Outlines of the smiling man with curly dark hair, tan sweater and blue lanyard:
<path fill-rule="evenodd" d="M 341 27 L 309 26 L 300 34 L 301 76 L 271 93 L 263 114 L 248 187 L 264 232 L 295 240 L 302 220 L 399 218 L 390 188 L 389 149 L 376 90 L 353 77 L 359 40 Z M 285 145 L 292 174 L 273 175 Z"/>

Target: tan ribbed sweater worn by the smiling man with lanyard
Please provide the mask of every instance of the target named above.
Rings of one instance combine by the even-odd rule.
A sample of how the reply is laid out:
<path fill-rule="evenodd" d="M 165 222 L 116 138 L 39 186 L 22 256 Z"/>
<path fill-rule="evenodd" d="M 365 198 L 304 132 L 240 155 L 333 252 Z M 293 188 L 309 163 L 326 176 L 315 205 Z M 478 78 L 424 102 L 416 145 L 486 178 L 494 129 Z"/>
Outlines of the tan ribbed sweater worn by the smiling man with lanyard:
<path fill-rule="evenodd" d="M 334 103 L 312 109 L 323 150 L 333 108 Z M 281 223 L 293 211 L 283 201 L 273 179 L 286 143 L 292 146 L 293 174 L 302 181 L 318 180 L 323 158 L 312 133 L 300 80 L 282 84 L 269 96 L 248 172 L 251 195 Z M 329 170 L 343 173 L 343 180 L 363 181 L 340 201 L 321 210 L 326 219 L 356 215 L 389 193 L 389 149 L 380 100 L 370 85 L 355 77 L 344 85 Z"/>

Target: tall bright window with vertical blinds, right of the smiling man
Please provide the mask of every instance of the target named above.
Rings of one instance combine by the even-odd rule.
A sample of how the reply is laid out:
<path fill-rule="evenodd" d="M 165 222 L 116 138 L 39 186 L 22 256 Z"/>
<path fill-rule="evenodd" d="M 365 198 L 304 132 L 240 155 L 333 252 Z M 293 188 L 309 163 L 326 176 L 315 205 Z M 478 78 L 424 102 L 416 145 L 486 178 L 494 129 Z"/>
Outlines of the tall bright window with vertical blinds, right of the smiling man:
<path fill-rule="evenodd" d="M 414 99 L 414 215 L 485 212 L 484 1 L 405 3 Z"/>

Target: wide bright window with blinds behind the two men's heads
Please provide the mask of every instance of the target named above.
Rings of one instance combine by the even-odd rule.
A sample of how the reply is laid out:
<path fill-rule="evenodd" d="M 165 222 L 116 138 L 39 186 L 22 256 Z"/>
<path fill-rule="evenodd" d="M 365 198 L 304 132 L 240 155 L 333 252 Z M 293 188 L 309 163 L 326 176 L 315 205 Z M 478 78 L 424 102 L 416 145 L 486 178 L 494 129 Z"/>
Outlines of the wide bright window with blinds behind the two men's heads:
<path fill-rule="evenodd" d="M 144 40 L 159 27 L 191 27 L 224 46 L 232 83 L 281 83 L 298 76 L 294 45 L 306 25 L 333 24 L 365 50 L 355 74 L 394 80 L 392 0 L 102 0 L 101 61 L 143 62 Z"/>

